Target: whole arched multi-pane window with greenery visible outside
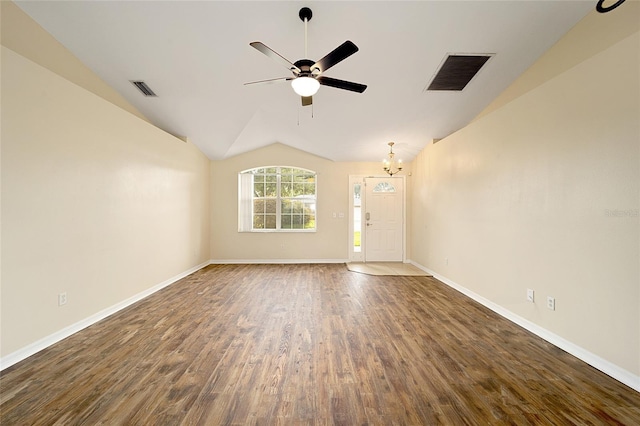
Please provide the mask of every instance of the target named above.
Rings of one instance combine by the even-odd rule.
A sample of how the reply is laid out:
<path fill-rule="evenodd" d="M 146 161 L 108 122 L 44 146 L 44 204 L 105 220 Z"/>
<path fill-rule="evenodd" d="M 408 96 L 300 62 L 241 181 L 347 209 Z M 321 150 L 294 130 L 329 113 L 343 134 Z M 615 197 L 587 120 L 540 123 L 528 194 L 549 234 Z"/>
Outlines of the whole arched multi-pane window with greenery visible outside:
<path fill-rule="evenodd" d="M 240 173 L 239 193 L 240 231 L 316 229 L 316 173 L 311 170 L 246 170 Z"/>

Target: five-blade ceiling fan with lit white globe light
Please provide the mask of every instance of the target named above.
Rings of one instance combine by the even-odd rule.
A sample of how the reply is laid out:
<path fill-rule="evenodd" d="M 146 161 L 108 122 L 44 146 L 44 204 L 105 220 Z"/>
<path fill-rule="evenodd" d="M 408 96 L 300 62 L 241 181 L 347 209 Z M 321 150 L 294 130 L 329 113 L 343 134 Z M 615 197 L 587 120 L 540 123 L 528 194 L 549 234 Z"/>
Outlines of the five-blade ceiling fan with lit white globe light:
<path fill-rule="evenodd" d="M 311 20 L 313 16 L 311 9 L 303 7 L 298 13 L 300 19 L 304 22 L 304 54 L 307 56 L 307 22 Z M 291 87 L 294 92 L 302 97 L 302 106 L 311 105 L 313 103 L 313 95 L 316 94 L 320 85 L 335 87 L 337 89 L 350 90 L 352 92 L 362 93 L 367 88 L 366 85 L 360 83 L 353 83 L 351 81 L 338 80 L 331 77 L 325 77 L 322 75 L 332 66 L 343 61 L 349 56 L 358 51 L 358 46 L 347 40 L 340 46 L 336 47 L 333 51 L 329 52 L 324 58 L 319 61 L 312 61 L 311 59 L 300 59 L 294 63 L 291 63 L 288 59 L 285 59 L 282 55 L 268 47 L 262 42 L 254 41 L 249 43 L 258 51 L 264 53 L 271 59 L 287 67 L 292 72 L 292 77 L 273 78 L 269 80 L 253 81 L 246 84 L 256 83 L 269 83 L 274 81 L 291 81 Z"/>

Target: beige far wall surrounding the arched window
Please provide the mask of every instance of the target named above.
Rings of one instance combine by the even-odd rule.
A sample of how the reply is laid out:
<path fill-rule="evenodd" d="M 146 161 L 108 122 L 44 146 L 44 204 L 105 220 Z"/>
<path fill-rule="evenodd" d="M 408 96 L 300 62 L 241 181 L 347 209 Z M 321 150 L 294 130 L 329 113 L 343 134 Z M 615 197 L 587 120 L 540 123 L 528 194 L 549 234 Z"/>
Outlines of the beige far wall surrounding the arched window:
<path fill-rule="evenodd" d="M 238 173 L 260 166 L 301 167 L 318 173 L 317 232 L 238 232 Z M 380 171 L 380 163 L 333 162 L 279 143 L 213 161 L 211 258 L 216 262 L 348 259 L 349 175 Z"/>

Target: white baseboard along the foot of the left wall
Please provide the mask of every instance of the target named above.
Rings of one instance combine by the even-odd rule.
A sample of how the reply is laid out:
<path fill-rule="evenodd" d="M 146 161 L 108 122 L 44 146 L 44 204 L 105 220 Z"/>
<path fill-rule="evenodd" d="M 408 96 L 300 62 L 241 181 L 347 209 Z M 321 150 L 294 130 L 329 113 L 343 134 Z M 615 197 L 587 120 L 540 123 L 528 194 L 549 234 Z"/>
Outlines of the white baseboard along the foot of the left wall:
<path fill-rule="evenodd" d="M 96 322 L 103 320 L 104 318 L 115 314 L 116 312 L 126 308 L 127 306 L 133 305 L 134 303 L 144 299 L 147 296 L 150 296 L 151 294 L 155 293 L 158 290 L 163 289 L 164 287 L 167 287 L 168 285 L 173 284 L 174 282 L 181 280 L 182 278 L 186 277 L 189 274 L 194 273 L 195 271 L 204 268 L 205 266 L 209 265 L 210 262 L 205 262 L 202 263 L 198 266 L 194 266 L 193 268 L 182 272 L 181 274 L 176 275 L 175 277 L 169 278 L 166 281 L 161 282 L 160 284 L 157 284 L 143 292 L 140 292 L 126 300 L 123 300 L 120 303 L 116 303 L 113 306 L 110 306 L 106 309 L 103 309 L 100 312 L 97 312 L 93 315 L 91 315 L 88 318 L 85 318 L 81 321 L 78 321 L 75 324 L 72 324 L 68 327 L 63 328 L 62 330 L 56 331 L 55 333 L 44 337 L 34 343 L 31 343 L 28 346 L 25 346 L 22 349 L 18 349 L 17 351 L 10 353 L 9 355 L 2 357 L 0 359 L 0 371 L 4 370 L 7 367 L 11 367 L 13 364 L 16 364 L 20 361 L 22 361 L 23 359 L 26 359 L 28 357 L 30 357 L 31 355 L 40 352 L 41 350 L 53 345 L 54 343 L 59 342 L 62 339 L 66 339 L 67 337 L 71 336 L 74 333 L 77 333 L 78 331 L 89 327 L 92 324 L 95 324 Z"/>

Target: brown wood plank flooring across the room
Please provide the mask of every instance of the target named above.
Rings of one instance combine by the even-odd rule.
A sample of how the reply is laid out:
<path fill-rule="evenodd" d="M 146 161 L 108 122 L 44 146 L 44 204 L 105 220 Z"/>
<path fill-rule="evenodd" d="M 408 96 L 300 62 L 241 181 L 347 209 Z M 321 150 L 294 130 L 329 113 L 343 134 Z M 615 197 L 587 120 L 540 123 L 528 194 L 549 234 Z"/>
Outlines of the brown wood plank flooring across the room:
<path fill-rule="evenodd" d="M 211 265 L 0 376 L 3 425 L 640 424 L 640 393 L 430 277 Z"/>

